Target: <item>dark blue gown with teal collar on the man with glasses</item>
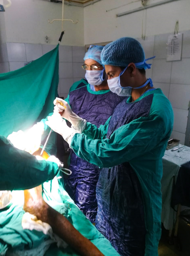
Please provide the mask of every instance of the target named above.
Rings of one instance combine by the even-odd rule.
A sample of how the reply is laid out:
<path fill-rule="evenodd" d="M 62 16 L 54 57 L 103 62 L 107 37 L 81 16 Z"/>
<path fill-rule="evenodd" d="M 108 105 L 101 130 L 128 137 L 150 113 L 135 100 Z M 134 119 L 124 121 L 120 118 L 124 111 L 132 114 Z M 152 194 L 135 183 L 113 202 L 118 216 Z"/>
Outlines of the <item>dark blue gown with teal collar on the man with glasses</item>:
<path fill-rule="evenodd" d="M 110 90 L 92 91 L 90 84 L 82 79 L 71 87 L 66 100 L 75 114 L 99 127 L 105 124 L 115 107 L 124 98 Z M 76 156 L 72 150 L 69 169 L 72 174 L 66 179 L 65 190 L 86 217 L 94 223 L 98 209 L 96 185 L 100 169 Z"/>

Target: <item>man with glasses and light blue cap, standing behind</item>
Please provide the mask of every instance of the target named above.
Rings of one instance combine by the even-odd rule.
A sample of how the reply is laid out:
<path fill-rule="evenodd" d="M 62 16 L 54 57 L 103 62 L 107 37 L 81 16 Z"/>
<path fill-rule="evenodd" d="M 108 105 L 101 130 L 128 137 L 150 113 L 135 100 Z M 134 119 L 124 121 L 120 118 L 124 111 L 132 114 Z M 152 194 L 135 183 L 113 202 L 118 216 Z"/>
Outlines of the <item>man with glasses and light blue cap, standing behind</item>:
<path fill-rule="evenodd" d="M 99 127 L 113 114 L 115 107 L 125 98 L 111 92 L 104 65 L 101 62 L 103 46 L 91 45 L 84 56 L 85 79 L 73 84 L 66 99 L 73 112 Z M 57 98 L 62 101 L 62 99 Z M 111 102 L 111 104 L 110 104 Z M 92 222 L 97 214 L 96 185 L 100 169 L 70 151 L 70 170 L 65 190 Z"/>

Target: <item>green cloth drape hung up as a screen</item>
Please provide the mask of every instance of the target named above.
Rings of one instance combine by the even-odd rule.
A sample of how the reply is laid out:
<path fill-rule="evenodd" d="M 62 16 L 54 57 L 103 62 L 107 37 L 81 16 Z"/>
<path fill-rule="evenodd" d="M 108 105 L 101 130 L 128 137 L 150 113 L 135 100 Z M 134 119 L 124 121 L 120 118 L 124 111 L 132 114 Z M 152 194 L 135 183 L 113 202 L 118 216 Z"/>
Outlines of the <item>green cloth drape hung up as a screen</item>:
<path fill-rule="evenodd" d="M 59 45 L 21 69 L 0 74 L 0 135 L 24 131 L 53 112 L 58 83 Z M 55 139 L 52 134 L 51 146 Z"/>

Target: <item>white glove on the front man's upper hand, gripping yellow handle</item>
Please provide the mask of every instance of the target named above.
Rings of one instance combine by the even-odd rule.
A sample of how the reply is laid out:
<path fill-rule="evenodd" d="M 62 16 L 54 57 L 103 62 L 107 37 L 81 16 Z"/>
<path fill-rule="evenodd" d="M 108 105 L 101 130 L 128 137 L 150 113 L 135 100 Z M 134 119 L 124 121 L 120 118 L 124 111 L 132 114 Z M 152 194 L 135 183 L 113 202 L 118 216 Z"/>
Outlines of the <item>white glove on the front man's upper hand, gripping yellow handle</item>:
<path fill-rule="evenodd" d="M 66 108 L 64 108 L 64 106 L 61 106 L 60 104 L 56 104 L 57 100 L 61 101 L 64 106 Z M 82 133 L 83 130 L 86 127 L 87 121 L 85 119 L 82 119 L 81 117 L 77 116 L 70 108 L 70 105 L 62 99 L 56 98 L 53 101 L 53 104 L 55 105 L 54 107 L 54 113 L 59 113 L 61 111 L 62 112 L 62 117 L 65 118 L 66 120 L 68 120 L 71 124 L 72 127 L 75 128 L 75 130 L 77 130 L 79 133 Z"/>

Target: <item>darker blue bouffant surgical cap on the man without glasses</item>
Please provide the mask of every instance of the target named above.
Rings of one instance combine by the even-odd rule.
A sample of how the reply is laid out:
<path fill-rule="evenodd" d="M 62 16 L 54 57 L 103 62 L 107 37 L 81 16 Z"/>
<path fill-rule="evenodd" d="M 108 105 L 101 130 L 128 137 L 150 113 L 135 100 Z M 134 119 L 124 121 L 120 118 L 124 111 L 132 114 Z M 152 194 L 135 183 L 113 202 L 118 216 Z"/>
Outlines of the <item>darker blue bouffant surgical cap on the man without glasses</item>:
<path fill-rule="evenodd" d="M 131 37 L 122 37 L 107 44 L 102 50 L 101 61 L 103 65 L 121 67 L 127 67 L 129 63 L 133 62 L 139 69 L 147 69 L 151 65 L 145 62 L 142 45 Z"/>

